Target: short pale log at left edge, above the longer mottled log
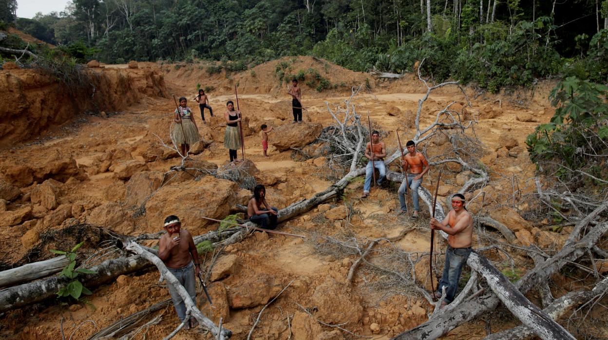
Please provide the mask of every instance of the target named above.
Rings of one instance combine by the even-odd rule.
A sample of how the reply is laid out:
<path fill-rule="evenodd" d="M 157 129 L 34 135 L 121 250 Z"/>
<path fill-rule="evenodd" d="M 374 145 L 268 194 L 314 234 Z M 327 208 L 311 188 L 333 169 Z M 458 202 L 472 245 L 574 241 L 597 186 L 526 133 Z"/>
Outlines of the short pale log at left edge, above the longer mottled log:
<path fill-rule="evenodd" d="M 70 260 L 61 255 L 49 260 L 27 263 L 17 268 L 0 271 L 0 287 L 13 286 L 17 283 L 30 282 L 60 272 Z"/>

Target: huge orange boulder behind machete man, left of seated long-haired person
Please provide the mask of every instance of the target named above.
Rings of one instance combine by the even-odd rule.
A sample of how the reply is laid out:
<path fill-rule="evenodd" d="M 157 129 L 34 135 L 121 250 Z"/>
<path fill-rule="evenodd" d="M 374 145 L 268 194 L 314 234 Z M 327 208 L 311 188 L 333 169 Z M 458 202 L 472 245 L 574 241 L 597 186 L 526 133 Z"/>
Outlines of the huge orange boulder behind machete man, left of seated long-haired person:
<path fill-rule="evenodd" d="M 163 186 L 145 203 L 147 228 L 140 232 L 161 231 L 165 218 L 176 215 L 191 234 L 202 234 L 212 224 L 202 217 L 221 220 L 229 215 L 237 192 L 235 182 L 213 176 Z"/>

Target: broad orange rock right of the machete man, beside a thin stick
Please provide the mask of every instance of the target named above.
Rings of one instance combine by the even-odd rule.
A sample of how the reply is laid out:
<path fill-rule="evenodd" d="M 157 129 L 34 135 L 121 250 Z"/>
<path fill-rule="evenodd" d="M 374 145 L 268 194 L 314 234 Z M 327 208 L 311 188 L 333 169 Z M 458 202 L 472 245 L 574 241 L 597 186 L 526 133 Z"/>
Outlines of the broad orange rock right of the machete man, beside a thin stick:
<path fill-rule="evenodd" d="M 254 280 L 238 282 L 230 286 L 228 302 L 232 309 L 250 308 L 265 305 L 283 290 L 283 285 L 274 276 L 260 273 Z"/>

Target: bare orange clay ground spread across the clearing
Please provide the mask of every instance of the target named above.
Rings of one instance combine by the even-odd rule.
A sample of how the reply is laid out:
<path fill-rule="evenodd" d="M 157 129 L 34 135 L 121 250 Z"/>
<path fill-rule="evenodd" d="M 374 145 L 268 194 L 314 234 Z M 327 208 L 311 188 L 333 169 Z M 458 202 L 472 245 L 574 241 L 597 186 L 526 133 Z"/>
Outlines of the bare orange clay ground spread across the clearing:
<path fill-rule="evenodd" d="M 316 69 L 331 83 L 331 89 L 317 92 L 306 85 L 310 75 L 300 82 L 303 105 L 308 108 L 304 113 L 306 122 L 321 123 L 323 127 L 333 124 L 327 105 L 333 108 L 334 104 L 343 103 L 351 94 L 351 86 L 364 84 L 368 79 L 371 89 L 362 89 L 354 101 L 358 113 L 365 115 L 369 112 L 374 127 L 384 131 L 389 153 L 396 150 L 396 127 L 404 131 L 400 134 L 402 143 L 413 137 L 413 131 L 404 127 L 404 122 L 411 120 L 418 99 L 425 91 L 416 78 L 405 75 L 392 82 L 376 81 L 368 74 L 348 71 L 311 57 L 283 58 L 229 75 L 224 71 L 207 74 L 210 63 L 179 66 L 139 63 L 138 69 L 128 69 L 126 65 L 105 65 L 92 70 L 102 79 L 99 82 L 102 86 L 96 89 L 95 105 L 98 110 L 105 111 L 94 114 L 83 114 L 86 109 L 95 112 L 95 105 L 83 102 L 88 100 L 85 95 L 71 98 L 61 94 L 35 72 L 0 71 L 0 82 L 5 82 L 5 86 L 10 86 L 11 82 L 20 84 L 19 90 L 12 92 L 12 97 L 2 91 L 2 102 L 18 103 L 24 108 L 19 111 L 22 115 L 36 120 L 36 124 L 31 123 L 31 119 L 20 120 L 21 117 L 15 117 L 8 107 L 2 111 L 6 115 L 4 123 L 8 123 L 8 117 L 15 122 L 13 134 L 5 134 L 3 139 L 2 177 L 4 183 L 17 187 L 21 192 L 18 198 L 3 204 L 5 211 L 0 212 L 4 219 L 1 222 L 4 227 L 0 229 L 3 268 L 50 258 L 49 249 L 67 249 L 83 240 L 86 243 L 81 248 L 79 261 L 88 257 L 107 237 L 90 235 L 86 230 L 69 229 L 77 221 L 97 224 L 121 234 L 138 235 L 161 231 L 160 221 L 166 215 L 176 213 L 184 221 L 185 229 L 201 234 L 217 228 L 216 223 L 201 220 L 201 215 L 224 218 L 233 212 L 231 209 L 235 203 L 246 204 L 250 192 L 239 189 L 233 182 L 212 176 L 195 180 L 184 173 L 171 181 L 165 178 L 162 188 L 150 199 L 144 199 L 154 191 L 150 191 L 150 187 L 158 187 L 163 174 L 172 165 L 179 164 L 174 153 L 159 146 L 160 141 L 170 143 L 168 131 L 173 118 L 173 94 L 188 98 L 188 106 L 193 108 L 201 136 L 212 141 L 208 148 L 192 156 L 195 160 L 218 166 L 227 163 L 228 152 L 223 148 L 223 114 L 226 101 L 234 100 L 233 89 L 238 84 L 240 108 L 244 117 L 249 119 L 250 128 L 246 129 L 250 130 L 245 138 L 246 158 L 253 161 L 259 171 L 255 178 L 266 184 L 269 203 L 282 208 L 330 186 L 331 178 L 325 176 L 326 168 L 321 167 L 323 159 L 295 161 L 297 158 L 292 157 L 291 151 L 277 151 L 272 144 L 282 138 L 279 134 L 269 134 L 270 158 L 262 156 L 258 134 L 260 125 L 266 123 L 278 127 L 291 124 L 292 120 L 287 85 L 280 83 L 275 72 L 279 63 L 288 65 L 286 74 Z M 202 88 L 213 88 L 207 94 L 215 117 L 210 117 L 207 111 L 207 125 L 201 122 L 198 105 L 192 100 L 197 84 Z M 484 93 L 476 98 L 474 90 L 466 89 L 472 102 L 469 113 L 478 118 L 475 133 L 485 148 L 481 162 L 491 175 L 485 190 L 487 206 L 484 209 L 508 209 L 506 207 L 510 204 L 505 202 L 511 199 L 513 175 L 523 193 L 534 190 L 533 181 L 529 180 L 534 176 L 534 164 L 528 159 L 524 141 L 539 122 L 550 119 L 553 111 L 548 105 L 547 94 L 552 86 L 551 83 L 541 83 L 533 94 L 525 91 L 509 95 Z M 46 101 L 41 102 L 41 98 L 46 98 Z M 525 101 L 521 101 L 522 98 Z M 69 107 L 71 111 L 57 109 L 57 114 L 62 116 L 54 117 L 55 109 L 45 108 L 49 101 L 57 101 L 53 104 L 57 108 Z M 421 126 L 428 125 L 435 119 L 435 113 L 452 101 L 457 105 L 465 102 L 454 86 L 435 91 L 423 108 Z M 513 138 L 513 145 L 507 148 L 500 144 L 506 137 L 499 138 L 503 134 Z M 432 143 L 420 148 L 424 148 L 430 158 L 441 150 Z M 155 156 L 150 157 L 150 154 Z M 457 172 L 444 172 L 444 195 L 460 186 L 461 179 L 456 175 Z M 432 170 L 425 177 L 423 186 L 432 189 L 431 182 L 435 184 L 436 178 L 437 172 Z M 307 241 L 257 233 L 223 249 L 218 266 L 221 264 L 226 269 L 227 276 L 209 283 L 217 306 L 210 310 L 204 302 L 204 294 L 199 294 L 201 311 L 215 322 L 219 316 L 223 317 L 224 327 L 233 331 L 233 339 L 245 339 L 263 305 L 294 280 L 285 293 L 266 308 L 252 338 L 288 339 L 290 328 L 294 339 L 352 338 L 345 331 L 320 326 L 297 304 L 309 308 L 322 321 L 330 324 L 346 322 L 342 327 L 361 335 L 374 336 L 374 339 L 388 339 L 426 321 L 432 306 L 411 288 L 399 285 L 383 272 L 366 267 L 358 269 L 353 284 L 349 286 L 346 276 L 357 256 L 319 247 L 324 242 L 320 237 L 324 235 L 340 240 L 349 237 L 365 240 L 392 237 L 404 227 L 414 227 L 395 246 L 418 255 L 427 251 L 428 213 L 423 203 L 421 218 L 409 220 L 396 216 L 398 199 L 395 186 L 373 189 L 370 198 L 365 200 L 359 199 L 361 192 L 362 180 L 356 179 L 345 190 L 344 201 L 328 201 L 279 226 L 282 231 L 307 235 Z M 350 209 L 348 218 L 345 204 Z M 145 213 L 142 214 L 141 209 L 137 213 L 140 206 L 145 207 Z M 477 209 L 472 208 L 474 213 L 478 212 L 479 204 Z M 536 241 L 534 237 L 539 236 L 534 232 L 538 228 L 531 223 L 524 227 L 530 231 L 528 235 L 532 235 L 532 241 Z M 62 230 L 67 232 L 61 234 Z M 563 237 L 552 234 L 556 240 Z M 495 236 L 500 238 L 499 234 Z M 474 246 L 479 245 L 477 237 L 474 242 Z M 156 241 L 145 244 L 154 246 Z M 371 257 L 377 257 L 378 263 L 390 267 L 390 261 L 382 259 L 382 253 L 390 249 L 390 245 L 383 243 L 376 248 L 384 250 L 372 253 Z M 116 255 L 117 252 L 106 255 L 92 264 Z M 523 254 L 514 256 L 525 271 L 523 264 L 530 265 L 530 259 Z M 210 257 L 211 254 L 204 257 L 207 265 Z M 493 260 L 499 262 L 505 260 L 499 255 L 495 257 Z M 436 267 L 441 268 L 441 261 L 438 257 Z M 424 279 L 427 268 L 424 263 L 428 262 L 420 263 L 422 265 L 416 266 L 421 271 L 418 276 L 423 277 L 419 278 L 419 283 L 428 285 L 428 275 Z M 50 299 L 43 304 L 7 312 L 2 317 L 0 337 L 60 339 L 63 319 L 66 338 L 75 331 L 74 339 L 86 339 L 95 330 L 169 297 L 164 283 L 158 282 L 155 268 L 121 276 L 116 282 L 92 291 L 93 294 L 81 302 Z M 556 288 L 554 295 L 564 293 L 561 288 Z M 492 331 L 517 324 L 513 317 L 502 315 L 490 316 Z M 154 313 L 142 324 L 154 316 L 160 318 L 142 327 L 134 338 L 161 339 L 178 325 L 171 305 Z M 76 330 L 85 321 L 93 322 L 86 322 Z M 485 322 L 474 321 L 455 329 L 445 338 L 480 339 L 483 336 Z M 182 330 L 174 339 L 201 337 L 210 338 L 198 330 Z"/>

